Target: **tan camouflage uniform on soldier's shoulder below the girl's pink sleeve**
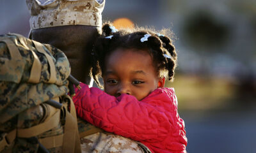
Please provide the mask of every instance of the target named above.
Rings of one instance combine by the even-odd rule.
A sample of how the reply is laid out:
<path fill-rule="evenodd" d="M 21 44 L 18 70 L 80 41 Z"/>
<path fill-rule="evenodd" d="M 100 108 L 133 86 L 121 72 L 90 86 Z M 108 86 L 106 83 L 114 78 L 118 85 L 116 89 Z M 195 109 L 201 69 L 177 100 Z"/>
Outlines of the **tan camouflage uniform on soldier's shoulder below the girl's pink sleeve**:
<path fill-rule="evenodd" d="M 83 119 L 77 118 L 82 152 L 92 153 L 148 153 L 150 150 L 140 142 L 107 133 Z"/>

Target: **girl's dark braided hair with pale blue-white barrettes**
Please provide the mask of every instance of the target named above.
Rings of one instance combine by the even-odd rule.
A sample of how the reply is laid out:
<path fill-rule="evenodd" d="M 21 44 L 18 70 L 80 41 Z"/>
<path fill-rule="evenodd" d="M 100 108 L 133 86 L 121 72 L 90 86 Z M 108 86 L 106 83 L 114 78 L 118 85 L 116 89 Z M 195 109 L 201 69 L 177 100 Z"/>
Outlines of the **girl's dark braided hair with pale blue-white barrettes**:
<path fill-rule="evenodd" d="M 115 28 L 115 27 L 114 27 Z M 131 30 L 131 29 L 130 29 Z M 145 34 L 150 34 L 147 41 L 141 41 Z M 177 54 L 172 40 L 163 34 L 154 33 L 148 29 L 133 31 L 113 29 L 111 24 L 102 26 L 102 36 L 95 41 L 92 50 L 92 77 L 99 85 L 99 77 L 104 75 L 106 57 L 117 48 L 135 48 L 145 50 L 150 54 L 153 66 L 160 78 L 173 80 L 177 66 Z"/>

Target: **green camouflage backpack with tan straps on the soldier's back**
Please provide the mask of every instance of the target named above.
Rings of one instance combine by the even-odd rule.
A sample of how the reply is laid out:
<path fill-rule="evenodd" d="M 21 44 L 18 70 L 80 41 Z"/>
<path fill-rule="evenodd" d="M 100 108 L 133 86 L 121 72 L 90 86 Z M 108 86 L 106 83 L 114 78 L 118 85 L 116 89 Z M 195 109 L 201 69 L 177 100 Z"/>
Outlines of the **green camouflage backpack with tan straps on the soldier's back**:
<path fill-rule="evenodd" d="M 42 47 L 44 53 L 39 52 L 36 45 Z M 39 71 L 33 68 L 35 61 L 40 62 Z M 39 74 L 38 80 L 31 79 L 33 69 Z M 63 135 L 65 108 L 60 110 L 44 102 L 56 99 L 63 105 L 70 103 L 67 100 L 68 75 L 68 59 L 58 48 L 19 34 L 0 36 L 0 152 L 38 152 L 44 138 Z M 52 119 L 56 124 L 51 124 L 54 127 L 42 128 L 43 123 Z M 12 131 L 16 135 L 15 140 L 9 142 L 4 136 Z M 5 139 L 8 140 L 7 145 L 3 145 Z M 49 151 L 60 152 L 62 147 L 53 145 Z"/>

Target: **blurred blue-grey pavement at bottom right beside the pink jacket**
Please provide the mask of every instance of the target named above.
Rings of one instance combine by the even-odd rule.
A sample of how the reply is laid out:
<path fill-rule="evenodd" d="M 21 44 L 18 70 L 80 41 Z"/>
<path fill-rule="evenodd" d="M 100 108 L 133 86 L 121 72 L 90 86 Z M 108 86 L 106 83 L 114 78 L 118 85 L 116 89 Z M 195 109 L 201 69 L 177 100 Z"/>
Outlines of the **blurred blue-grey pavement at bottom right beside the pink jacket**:
<path fill-rule="evenodd" d="M 256 111 L 179 113 L 189 153 L 256 153 Z"/>

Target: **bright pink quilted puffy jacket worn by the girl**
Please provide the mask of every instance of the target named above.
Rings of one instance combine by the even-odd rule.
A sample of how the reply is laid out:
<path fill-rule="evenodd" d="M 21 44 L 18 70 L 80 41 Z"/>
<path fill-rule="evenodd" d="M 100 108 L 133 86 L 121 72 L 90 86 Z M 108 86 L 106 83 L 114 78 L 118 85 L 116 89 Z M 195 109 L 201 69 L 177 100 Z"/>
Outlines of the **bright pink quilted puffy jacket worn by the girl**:
<path fill-rule="evenodd" d="M 128 94 L 115 98 L 86 84 L 81 87 L 73 101 L 82 119 L 141 142 L 152 152 L 186 152 L 188 140 L 173 88 L 158 88 L 138 101 Z"/>

